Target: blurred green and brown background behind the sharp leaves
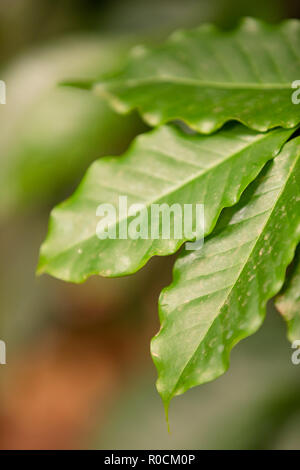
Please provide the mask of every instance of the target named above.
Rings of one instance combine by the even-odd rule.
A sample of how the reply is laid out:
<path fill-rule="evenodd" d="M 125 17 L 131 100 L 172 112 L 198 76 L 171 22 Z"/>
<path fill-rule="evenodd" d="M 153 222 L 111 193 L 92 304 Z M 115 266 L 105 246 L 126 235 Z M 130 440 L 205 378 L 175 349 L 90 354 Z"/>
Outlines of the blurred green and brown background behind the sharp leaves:
<path fill-rule="evenodd" d="M 111 72 L 178 27 L 299 13 L 296 0 L 0 1 L 1 449 L 300 448 L 300 366 L 272 304 L 223 377 L 173 401 L 168 434 L 149 341 L 174 259 L 79 286 L 35 277 L 51 207 L 146 129 L 57 83 Z"/>

